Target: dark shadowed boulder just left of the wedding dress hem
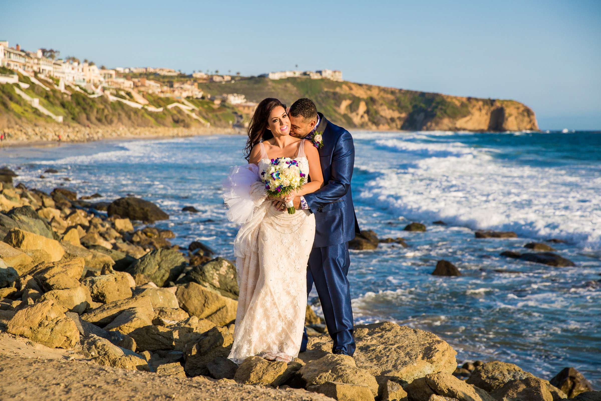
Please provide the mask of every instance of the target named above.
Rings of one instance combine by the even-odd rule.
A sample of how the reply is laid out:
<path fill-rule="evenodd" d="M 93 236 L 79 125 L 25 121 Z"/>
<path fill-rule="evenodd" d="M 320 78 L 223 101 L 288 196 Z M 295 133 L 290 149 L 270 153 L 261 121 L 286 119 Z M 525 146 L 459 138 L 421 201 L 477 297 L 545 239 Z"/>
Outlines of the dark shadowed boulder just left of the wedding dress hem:
<path fill-rule="evenodd" d="M 230 355 L 231 344 L 234 342 L 227 327 L 215 326 L 200 335 L 198 341 L 186 347 L 184 369 L 190 376 L 209 375 L 207 364 L 218 357 L 227 358 Z"/>

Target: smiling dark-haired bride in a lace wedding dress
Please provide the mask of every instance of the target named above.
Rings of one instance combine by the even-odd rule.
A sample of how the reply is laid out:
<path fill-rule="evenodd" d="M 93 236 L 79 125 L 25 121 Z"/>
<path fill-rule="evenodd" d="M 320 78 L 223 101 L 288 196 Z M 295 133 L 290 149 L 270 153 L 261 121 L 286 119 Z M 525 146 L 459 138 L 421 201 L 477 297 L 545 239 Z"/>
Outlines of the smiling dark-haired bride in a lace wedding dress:
<path fill-rule="evenodd" d="M 260 176 L 271 159 L 293 158 L 310 182 L 287 198 L 317 191 L 323 185 L 319 153 L 311 142 L 290 136 L 286 106 L 267 98 L 252 116 L 245 156 L 249 164 L 234 167 L 224 182 L 228 218 L 243 223 L 234 240 L 240 296 L 228 358 L 237 364 L 253 355 L 290 362 L 301 348 L 315 216 L 279 212 Z"/>

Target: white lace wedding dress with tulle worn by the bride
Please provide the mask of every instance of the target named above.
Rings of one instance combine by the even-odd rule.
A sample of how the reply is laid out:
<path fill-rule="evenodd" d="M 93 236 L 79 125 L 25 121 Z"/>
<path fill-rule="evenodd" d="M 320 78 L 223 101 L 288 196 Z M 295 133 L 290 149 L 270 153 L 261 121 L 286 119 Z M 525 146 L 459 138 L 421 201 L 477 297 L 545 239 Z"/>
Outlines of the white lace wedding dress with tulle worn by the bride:
<path fill-rule="evenodd" d="M 295 159 L 301 171 L 309 174 L 304 142 L 299 144 Z M 260 146 L 258 169 L 255 165 L 246 167 L 257 174 L 257 179 L 270 163 L 263 144 Z M 232 177 L 233 174 L 228 177 L 230 182 L 236 182 Z M 315 235 L 315 216 L 308 210 L 297 210 L 292 215 L 287 210 L 278 212 L 266 200 L 260 181 L 249 185 L 246 200 L 245 194 L 233 194 L 235 190 L 228 192 L 230 187 L 225 183 L 224 186 L 225 202 L 230 206 L 228 218 L 245 221 L 234 240 L 240 296 L 234 344 L 228 358 L 237 364 L 253 355 L 290 361 L 301 348 L 307 305 L 307 261 Z M 245 188 L 240 184 L 237 189 Z M 238 206 L 232 207 L 235 204 Z M 246 213 L 239 212 L 242 204 L 252 207 Z"/>

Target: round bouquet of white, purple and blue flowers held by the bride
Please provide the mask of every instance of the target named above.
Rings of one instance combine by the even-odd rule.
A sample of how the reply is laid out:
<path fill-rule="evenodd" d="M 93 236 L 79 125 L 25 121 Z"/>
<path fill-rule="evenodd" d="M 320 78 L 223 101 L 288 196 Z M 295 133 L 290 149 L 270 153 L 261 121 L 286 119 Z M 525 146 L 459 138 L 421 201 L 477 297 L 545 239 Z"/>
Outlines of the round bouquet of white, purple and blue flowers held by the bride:
<path fill-rule="evenodd" d="M 307 182 L 306 174 L 303 174 L 298 162 L 290 158 L 271 159 L 267 171 L 261 173 L 261 180 L 265 183 L 265 192 L 273 197 L 289 195 L 296 189 L 302 188 Z M 288 213 L 296 212 L 292 202 L 286 202 Z"/>

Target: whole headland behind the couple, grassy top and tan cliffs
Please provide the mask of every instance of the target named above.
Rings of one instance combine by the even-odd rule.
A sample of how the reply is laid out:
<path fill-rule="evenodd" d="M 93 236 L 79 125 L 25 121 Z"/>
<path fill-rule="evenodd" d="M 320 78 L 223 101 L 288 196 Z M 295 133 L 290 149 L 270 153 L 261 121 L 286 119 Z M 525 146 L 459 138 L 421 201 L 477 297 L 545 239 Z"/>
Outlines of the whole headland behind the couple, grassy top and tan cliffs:
<path fill-rule="evenodd" d="M 212 95 L 242 93 L 253 102 L 277 97 L 291 105 L 299 97 L 309 97 L 331 121 L 354 128 L 538 129 L 534 112 L 513 100 L 447 96 L 309 78 L 248 78 L 198 87 Z"/>

